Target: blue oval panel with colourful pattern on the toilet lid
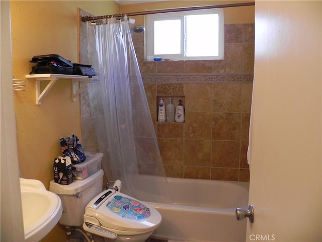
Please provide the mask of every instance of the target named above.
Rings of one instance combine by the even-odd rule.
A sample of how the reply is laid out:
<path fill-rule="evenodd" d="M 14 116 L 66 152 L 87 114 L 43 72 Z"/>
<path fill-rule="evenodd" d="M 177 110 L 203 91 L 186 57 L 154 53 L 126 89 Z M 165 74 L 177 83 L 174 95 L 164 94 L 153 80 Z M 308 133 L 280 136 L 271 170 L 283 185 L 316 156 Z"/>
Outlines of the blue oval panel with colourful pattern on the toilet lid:
<path fill-rule="evenodd" d="M 107 204 L 107 209 L 116 215 L 131 220 L 142 221 L 151 216 L 150 209 L 139 201 L 120 195 L 114 196 Z"/>

